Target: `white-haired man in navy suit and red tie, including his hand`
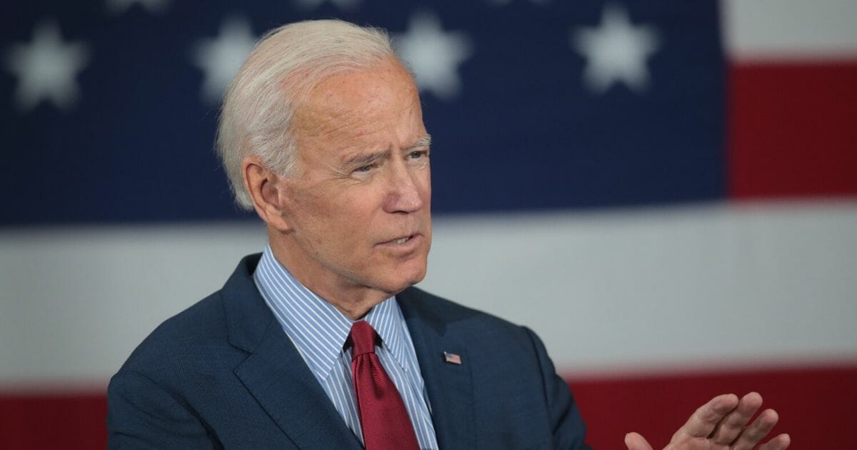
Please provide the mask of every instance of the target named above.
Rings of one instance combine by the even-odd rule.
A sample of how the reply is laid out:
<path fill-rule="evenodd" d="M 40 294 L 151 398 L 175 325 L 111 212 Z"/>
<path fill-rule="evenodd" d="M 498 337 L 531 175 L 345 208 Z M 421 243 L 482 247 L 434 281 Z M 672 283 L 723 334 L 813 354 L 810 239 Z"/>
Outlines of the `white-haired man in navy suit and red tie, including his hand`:
<path fill-rule="evenodd" d="M 385 33 L 307 21 L 261 39 L 218 148 L 268 246 L 113 377 L 111 447 L 585 448 L 534 333 L 411 287 L 431 243 L 429 144 Z M 776 423 L 745 428 L 760 404 L 712 399 L 671 448 L 754 447 Z"/>

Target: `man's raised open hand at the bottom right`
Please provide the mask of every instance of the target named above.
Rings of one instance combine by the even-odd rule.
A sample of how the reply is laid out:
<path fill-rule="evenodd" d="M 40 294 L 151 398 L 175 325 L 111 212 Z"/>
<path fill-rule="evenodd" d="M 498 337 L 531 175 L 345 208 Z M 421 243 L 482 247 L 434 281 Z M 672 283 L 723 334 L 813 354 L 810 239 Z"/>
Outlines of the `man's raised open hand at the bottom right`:
<path fill-rule="evenodd" d="M 779 419 L 774 410 L 764 410 L 747 424 L 762 406 L 762 396 L 748 393 L 743 399 L 733 393 L 718 395 L 693 413 L 673 435 L 664 450 L 750 450 L 762 441 Z M 758 450 L 785 450 L 791 439 L 778 435 Z M 628 450 L 652 450 L 638 433 L 625 435 Z"/>

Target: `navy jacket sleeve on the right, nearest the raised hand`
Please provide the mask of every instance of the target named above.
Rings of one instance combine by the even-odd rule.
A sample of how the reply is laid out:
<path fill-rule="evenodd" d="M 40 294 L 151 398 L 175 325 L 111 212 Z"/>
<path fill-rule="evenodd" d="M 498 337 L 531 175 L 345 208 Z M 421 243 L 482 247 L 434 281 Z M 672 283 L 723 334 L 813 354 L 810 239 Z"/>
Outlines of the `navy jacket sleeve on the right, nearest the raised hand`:
<path fill-rule="evenodd" d="M 548 357 L 542 340 L 527 327 L 524 330 L 536 350 L 542 372 L 545 403 L 548 405 L 550 425 L 554 431 L 554 448 L 568 450 L 588 450 L 584 439 L 586 425 L 580 417 L 578 406 L 574 403 L 572 391 L 559 375 L 556 375 L 554 363 Z"/>

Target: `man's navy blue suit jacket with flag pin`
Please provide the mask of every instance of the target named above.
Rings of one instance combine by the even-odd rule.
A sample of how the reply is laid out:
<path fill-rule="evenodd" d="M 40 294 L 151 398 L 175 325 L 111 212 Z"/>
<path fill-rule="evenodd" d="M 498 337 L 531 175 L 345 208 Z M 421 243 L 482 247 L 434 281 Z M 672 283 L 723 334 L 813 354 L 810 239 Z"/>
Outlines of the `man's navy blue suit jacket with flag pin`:
<path fill-rule="evenodd" d="M 258 261 L 244 258 L 113 376 L 110 448 L 361 448 L 257 291 Z M 441 449 L 586 448 L 572 395 L 529 329 L 416 288 L 397 299 Z"/>

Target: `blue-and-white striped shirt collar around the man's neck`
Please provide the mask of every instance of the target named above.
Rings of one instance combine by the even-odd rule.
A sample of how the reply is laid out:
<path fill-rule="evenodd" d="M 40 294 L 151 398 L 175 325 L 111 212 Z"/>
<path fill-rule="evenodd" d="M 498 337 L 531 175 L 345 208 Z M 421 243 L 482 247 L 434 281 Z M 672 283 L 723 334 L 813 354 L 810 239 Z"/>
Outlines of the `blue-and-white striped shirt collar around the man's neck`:
<path fill-rule="evenodd" d="M 333 304 L 319 297 L 295 279 L 277 261 L 267 245 L 253 274 L 255 284 L 273 315 L 300 351 L 309 369 L 319 380 L 327 379 L 341 357 L 353 321 Z M 369 310 L 363 319 L 381 336 L 383 346 L 396 363 L 405 363 L 405 317 L 396 297 L 389 297 Z"/>

